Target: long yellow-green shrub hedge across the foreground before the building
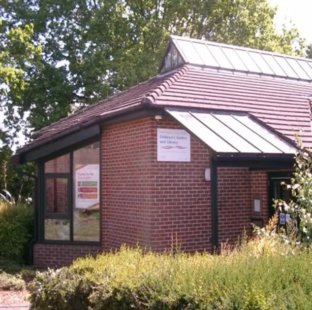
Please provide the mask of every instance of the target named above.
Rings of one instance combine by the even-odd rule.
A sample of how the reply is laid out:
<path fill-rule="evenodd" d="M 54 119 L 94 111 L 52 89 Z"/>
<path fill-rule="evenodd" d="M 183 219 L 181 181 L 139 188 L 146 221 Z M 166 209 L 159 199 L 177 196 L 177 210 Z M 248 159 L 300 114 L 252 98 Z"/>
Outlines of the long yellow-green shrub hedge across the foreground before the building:
<path fill-rule="evenodd" d="M 220 255 L 119 252 L 39 273 L 31 309 L 312 309 L 312 254 L 272 238 Z"/>

